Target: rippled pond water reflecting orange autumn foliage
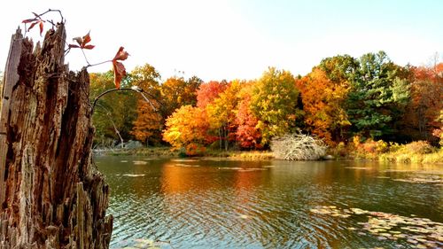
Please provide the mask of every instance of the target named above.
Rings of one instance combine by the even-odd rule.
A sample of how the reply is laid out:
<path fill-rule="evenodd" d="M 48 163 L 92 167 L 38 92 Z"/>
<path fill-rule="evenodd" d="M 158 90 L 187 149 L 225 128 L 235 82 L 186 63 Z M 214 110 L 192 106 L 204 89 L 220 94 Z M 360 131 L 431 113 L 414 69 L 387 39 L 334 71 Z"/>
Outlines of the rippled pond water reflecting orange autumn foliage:
<path fill-rule="evenodd" d="M 413 182 L 440 181 L 441 166 L 138 157 L 96 163 L 111 186 L 113 248 L 145 248 L 150 241 L 161 248 L 443 246 L 436 223 L 443 222 L 442 184 Z M 398 225 L 392 230 L 407 238 L 394 240 L 365 230 L 377 215 L 427 221 L 422 226 L 432 233 Z M 425 241 L 407 241 L 419 236 Z"/>

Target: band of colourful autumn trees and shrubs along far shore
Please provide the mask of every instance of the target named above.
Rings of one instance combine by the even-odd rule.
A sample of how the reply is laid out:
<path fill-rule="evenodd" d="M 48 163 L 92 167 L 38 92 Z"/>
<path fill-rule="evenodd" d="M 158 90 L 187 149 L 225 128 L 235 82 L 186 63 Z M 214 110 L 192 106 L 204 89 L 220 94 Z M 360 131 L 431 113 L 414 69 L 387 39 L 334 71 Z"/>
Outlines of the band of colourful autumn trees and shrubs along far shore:
<path fill-rule="evenodd" d="M 91 74 L 91 97 L 113 88 L 112 79 L 111 72 Z M 146 64 L 121 84 L 144 89 L 152 103 L 130 92 L 100 98 L 93 117 L 97 147 L 136 139 L 190 156 L 266 153 L 273 138 L 301 131 L 338 157 L 441 158 L 443 63 L 437 60 L 399 66 L 384 51 L 338 55 L 307 75 L 269 67 L 259 79 L 230 82 L 181 75 L 163 81 Z"/>

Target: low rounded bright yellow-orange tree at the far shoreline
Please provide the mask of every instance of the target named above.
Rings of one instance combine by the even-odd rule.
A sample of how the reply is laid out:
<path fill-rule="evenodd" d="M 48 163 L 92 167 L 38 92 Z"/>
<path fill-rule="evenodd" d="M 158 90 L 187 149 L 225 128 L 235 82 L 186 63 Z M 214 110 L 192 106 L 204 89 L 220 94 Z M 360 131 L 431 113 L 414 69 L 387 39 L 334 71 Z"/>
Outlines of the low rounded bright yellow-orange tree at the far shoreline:
<path fill-rule="evenodd" d="M 196 148 L 206 145 L 206 131 L 209 128 L 204 109 L 183 105 L 167 118 L 163 140 L 174 149 L 185 148 L 193 154 Z"/>

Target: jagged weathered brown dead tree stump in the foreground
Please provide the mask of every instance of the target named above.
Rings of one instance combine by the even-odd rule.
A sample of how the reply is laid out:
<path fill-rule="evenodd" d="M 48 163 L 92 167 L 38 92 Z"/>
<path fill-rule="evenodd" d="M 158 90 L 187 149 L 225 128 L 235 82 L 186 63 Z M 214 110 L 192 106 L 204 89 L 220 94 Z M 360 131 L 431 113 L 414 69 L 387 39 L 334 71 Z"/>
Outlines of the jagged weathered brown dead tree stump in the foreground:
<path fill-rule="evenodd" d="M 89 74 L 64 64 L 64 25 L 43 45 L 12 35 L 0 116 L 0 248 L 107 248 L 108 186 L 91 164 Z"/>

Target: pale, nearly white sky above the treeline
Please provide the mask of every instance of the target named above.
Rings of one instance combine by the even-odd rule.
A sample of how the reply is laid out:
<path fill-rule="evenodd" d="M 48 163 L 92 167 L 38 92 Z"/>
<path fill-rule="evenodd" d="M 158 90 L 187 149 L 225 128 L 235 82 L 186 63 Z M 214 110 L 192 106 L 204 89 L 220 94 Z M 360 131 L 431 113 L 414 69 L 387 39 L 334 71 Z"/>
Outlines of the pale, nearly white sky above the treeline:
<path fill-rule="evenodd" d="M 323 58 L 380 50 L 401 66 L 428 65 L 436 52 L 443 60 L 441 0 L 22 0 L 8 2 L 0 15 L 0 71 L 21 20 L 50 8 L 63 12 L 68 42 L 90 31 L 91 64 L 123 46 L 130 54 L 127 71 L 149 63 L 163 81 L 255 79 L 268 66 L 304 75 Z M 27 35 L 36 42 L 38 33 L 34 28 Z M 86 65 L 79 50 L 66 62 L 72 70 Z"/>

